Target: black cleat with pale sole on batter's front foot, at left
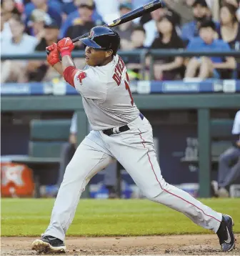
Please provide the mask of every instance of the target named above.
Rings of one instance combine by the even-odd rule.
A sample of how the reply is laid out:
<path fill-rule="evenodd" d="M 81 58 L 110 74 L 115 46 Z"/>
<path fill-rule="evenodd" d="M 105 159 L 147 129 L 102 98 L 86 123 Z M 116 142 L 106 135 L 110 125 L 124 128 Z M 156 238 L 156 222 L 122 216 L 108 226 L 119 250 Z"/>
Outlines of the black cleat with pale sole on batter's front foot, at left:
<path fill-rule="evenodd" d="M 31 244 L 31 250 L 36 252 L 51 252 L 51 253 L 64 253 L 66 252 L 66 246 L 64 242 L 51 235 L 44 235 L 41 239 L 34 240 Z"/>

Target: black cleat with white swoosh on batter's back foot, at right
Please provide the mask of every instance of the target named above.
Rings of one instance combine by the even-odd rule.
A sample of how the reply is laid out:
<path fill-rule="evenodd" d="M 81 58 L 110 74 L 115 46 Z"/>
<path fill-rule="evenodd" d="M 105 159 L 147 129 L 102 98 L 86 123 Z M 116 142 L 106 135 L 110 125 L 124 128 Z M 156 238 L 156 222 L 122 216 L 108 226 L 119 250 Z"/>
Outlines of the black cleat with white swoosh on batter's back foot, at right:
<path fill-rule="evenodd" d="M 229 215 L 222 215 L 221 224 L 216 235 L 219 237 L 219 243 L 223 252 L 230 252 L 235 247 L 235 237 L 233 232 L 234 221 Z"/>

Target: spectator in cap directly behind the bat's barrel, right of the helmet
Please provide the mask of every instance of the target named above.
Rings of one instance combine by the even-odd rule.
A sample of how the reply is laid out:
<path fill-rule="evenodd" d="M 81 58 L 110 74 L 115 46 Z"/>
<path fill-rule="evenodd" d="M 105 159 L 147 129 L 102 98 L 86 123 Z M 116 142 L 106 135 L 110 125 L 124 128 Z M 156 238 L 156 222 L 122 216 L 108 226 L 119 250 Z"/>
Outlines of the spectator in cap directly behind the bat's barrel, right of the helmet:
<path fill-rule="evenodd" d="M 128 2 L 124 2 L 120 4 L 119 6 L 120 9 L 120 16 L 127 14 L 129 11 L 131 11 L 131 4 Z M 124 24 L 121 24 L 119 26 L 116 26 L 115 29 L 118 33 L 119 36 L 121 37 L 121 44 L 120 47 L 123 50 L 127 50 L 131 48 L 131 34 L 134 31 L 134 22 L 129 21 Z"/>

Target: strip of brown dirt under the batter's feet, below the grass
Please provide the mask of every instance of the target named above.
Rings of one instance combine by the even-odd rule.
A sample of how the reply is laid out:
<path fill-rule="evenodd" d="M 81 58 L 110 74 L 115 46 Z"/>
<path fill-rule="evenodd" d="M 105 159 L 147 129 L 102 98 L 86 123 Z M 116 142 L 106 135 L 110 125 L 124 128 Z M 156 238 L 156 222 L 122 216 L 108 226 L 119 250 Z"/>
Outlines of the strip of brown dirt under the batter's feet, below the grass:
<path fill-rule="evenodd" d="M 31 251 L 34 239 L 1 237 L 1 255 L 37 255 Z M 237 242 L 232 252 L 221 252 L 216 235 L 67 237 L 66 247 L 66 255 L 240 255 Z"/>

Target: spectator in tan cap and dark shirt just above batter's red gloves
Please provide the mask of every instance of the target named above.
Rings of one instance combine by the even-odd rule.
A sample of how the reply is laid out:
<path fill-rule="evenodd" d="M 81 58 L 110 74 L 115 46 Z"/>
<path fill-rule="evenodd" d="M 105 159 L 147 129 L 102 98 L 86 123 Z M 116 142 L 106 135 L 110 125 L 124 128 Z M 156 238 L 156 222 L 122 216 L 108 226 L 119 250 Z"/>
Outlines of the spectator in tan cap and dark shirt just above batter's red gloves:
<path fill-rule="evenodd" d="M 74 20 L 74 24 L 69 26 L 66 31 L 65 36 L 70 38 L 75 38 L 82 34 L 86 34 L 96 26 L 95 22 L 92 19 L 92 14 L 94 11 L 94 6 L 89 4 L 79 4 L 78 11 L 80 14 L 79 18 Z M 75 49 L 84 49 L 84 44 L 81 44 L 81 41 L 75 44 Z"/>

